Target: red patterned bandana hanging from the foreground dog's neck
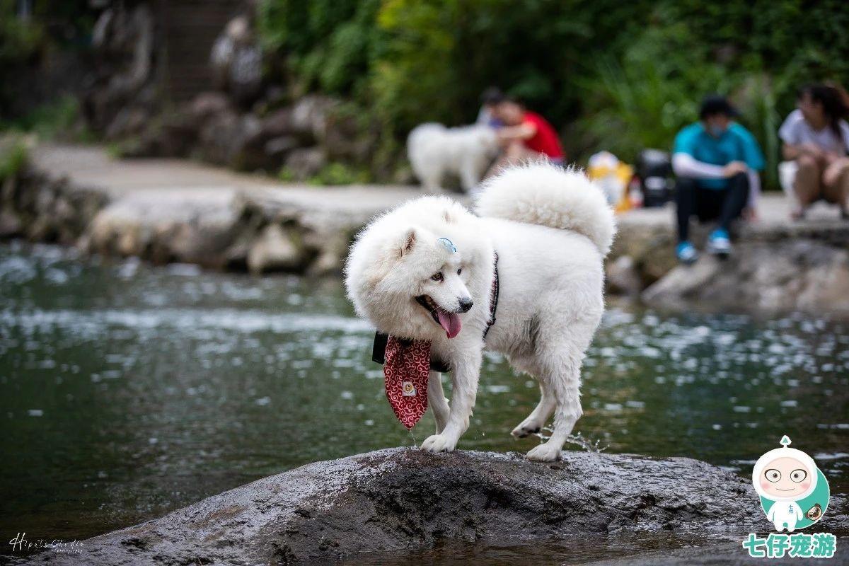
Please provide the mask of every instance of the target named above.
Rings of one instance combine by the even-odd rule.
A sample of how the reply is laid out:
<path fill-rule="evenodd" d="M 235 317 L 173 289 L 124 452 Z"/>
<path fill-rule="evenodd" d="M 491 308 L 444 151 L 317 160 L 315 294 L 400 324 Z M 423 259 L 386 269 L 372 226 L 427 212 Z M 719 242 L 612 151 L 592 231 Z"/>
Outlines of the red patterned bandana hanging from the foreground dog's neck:
<path fill-rule="evenodd" d="M 430 342 L 386 341 L 383 375 L 386 398 L 398 420 L 409 430 L 427 411 L 427 378 L 430 371 Z"/>

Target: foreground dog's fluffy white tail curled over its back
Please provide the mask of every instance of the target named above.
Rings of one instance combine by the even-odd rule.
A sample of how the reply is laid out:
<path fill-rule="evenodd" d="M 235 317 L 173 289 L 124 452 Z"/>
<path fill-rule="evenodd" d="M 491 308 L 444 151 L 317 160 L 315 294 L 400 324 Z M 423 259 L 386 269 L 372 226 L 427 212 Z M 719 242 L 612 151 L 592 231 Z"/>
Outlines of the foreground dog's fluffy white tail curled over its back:
<path fill-rule="evenodd" d="M 616 234 L 604 193 L 582 171 L 546 162 L 509 167 L 484 183 L 480 216 L 573 230 L 607 255 Z"/>

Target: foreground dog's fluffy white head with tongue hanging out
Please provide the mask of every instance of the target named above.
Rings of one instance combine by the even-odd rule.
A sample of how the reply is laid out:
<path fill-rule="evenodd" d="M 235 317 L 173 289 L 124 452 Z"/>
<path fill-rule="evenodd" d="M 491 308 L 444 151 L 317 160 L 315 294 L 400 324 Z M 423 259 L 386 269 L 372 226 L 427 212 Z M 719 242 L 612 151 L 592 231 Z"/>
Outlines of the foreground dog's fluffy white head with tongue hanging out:
<path fill-rule="evenodd" d="M 357 311 L 394 336 L 456 337 L 480 317 L 492 277 L 492 245 L 477 220 L 450 199 L 425 197 L 366 227 L 346 266 Z"/>

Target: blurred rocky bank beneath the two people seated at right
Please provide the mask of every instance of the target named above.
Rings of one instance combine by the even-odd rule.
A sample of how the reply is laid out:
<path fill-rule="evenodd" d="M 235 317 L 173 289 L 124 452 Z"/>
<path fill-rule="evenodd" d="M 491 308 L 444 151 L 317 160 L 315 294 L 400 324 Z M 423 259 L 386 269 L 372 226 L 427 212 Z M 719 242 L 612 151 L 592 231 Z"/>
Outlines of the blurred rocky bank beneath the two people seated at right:
<path fill-rule="evenodd" d="M 792 222 L 779 199 L 762 199 L 761 221 L 739 225 L 728 260 L 703 255 L 692 266 L 675 261 L 672 210 L 622 216 L 609 286 L 661 308 L 849 317 L 849 221 L 820 206 L 809 220 Z M 706 241 L 710 228 L 694 227 L 694 241 Z"/>

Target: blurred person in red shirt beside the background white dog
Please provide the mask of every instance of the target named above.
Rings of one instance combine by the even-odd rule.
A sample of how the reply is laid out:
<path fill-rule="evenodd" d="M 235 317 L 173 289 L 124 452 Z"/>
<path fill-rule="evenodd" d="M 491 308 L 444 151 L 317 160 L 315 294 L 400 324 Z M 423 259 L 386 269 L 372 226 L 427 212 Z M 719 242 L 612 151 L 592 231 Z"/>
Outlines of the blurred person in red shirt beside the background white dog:
<path fill-rule="evenodd" d="M 541 158 L 552 163 L 564 162 L 565 154 L 557 132 L 543 116 L 531 112 L 512 98 L 503 98 L 492 105 L 492 117 L 503 124 L 498 129 L 498 140 L 504 150 L 491 172 Z"/>

